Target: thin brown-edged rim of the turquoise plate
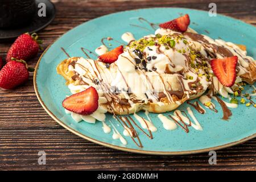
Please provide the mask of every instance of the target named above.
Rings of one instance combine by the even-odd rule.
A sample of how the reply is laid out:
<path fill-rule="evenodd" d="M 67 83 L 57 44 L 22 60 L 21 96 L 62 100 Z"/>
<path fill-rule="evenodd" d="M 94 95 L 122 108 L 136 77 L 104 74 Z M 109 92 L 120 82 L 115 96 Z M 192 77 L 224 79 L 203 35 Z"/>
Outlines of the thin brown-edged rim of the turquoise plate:
<path fill-rule="evenodd" d="M 181 8 L 181 7 L 148 7 L 148 8 L 142 8 L 142 9 L 132 9 L 132 10 L 125 10 L 125 11 L 135 11 L 135 10 L 144 10 L 144 9 L 163 9 L 163 8 L 168 8 L 168 9 L 189 9 L 189 8 Z M 204 11 L 204 10 L 197 10 L 197 9 L 189 9 L 189 10 L 196 10 L 196 11 Z M 117 13 L 122 13 L 122 12 L 125 12 L 125 11 L 118 11 L 118 12 L 115 12 L 115 13 L 111 13 L 111 14 L 106 14 L 106 15 L 103 15 L 103 16 L 108 16 L 108 15 L 113 15 L 113 14 L 117 14 Z M 207 12 L 207 11 L 204 11 L 204 12 Z M 99 16 L 97 18 L 94 18 L 94 19 L 98 19 L 98 18 L 102 18 L 103 16 Z M 221 16 L 226 16 L 226 15 L 222 15 Z M 231 16 L 226 16 L 226 18 L 232 18 L 234 20 L 237 20 L 239 22 L 242 22 L 242 23 L 245 23 L 249 26 L 252 26 L 251 24 L 248 24 L 246 22 L 243 22 L 242 20 L 239 20 L 239 19 L 236 19 L 236 18 L 233 18 Z M 94 20 L 92 19 L 92 20 Z M 89 20 L 91 21 L 91 20 Z M 89 22 L 87 21 L 87 22 Z M 84 23 L 87 23 L 87 22 L 84 22 Z M 81 24 L 84 24 L 84 23 L 81 23 Z M 79 27 L 81 26 L 81 24 L 79 24 L 78 26 L 76 27 Z M 73 27 L 73 28 L 76 28 L 76 27 Z M 254 27 L 254 26 L 252 26 Z M 73 28 L 71 30 L 73 30 Z M 69 31 L 71 31 L 69 30 Z M 65 34 L 67 34 L 69 31 L 65 32 Z M 237 140 L 237 141 L 234 141 L 234 142 L 230 142 L 230 143 L 226 143 L 226 144 L 223 144 L 221 146 L 216 146 L 216 147 L 208 147 L 208 148 L 202 148 L 202 149 L 199 149 L 199 150 L 187 150 L 187 151 L 150 151 L 150 150 L 140 150 L 140 149 L 135 149 L 135 148 L 127 148 L 127 147 L 122 147 L 122 146 L 116 146 L 114 144 L 110 144 L 110 143 L 107 143 L 107 142 L 102 142 L 100 140 L 97 140 L 97 139 L 94 139 L 94 138 L 91 138 L 91 137 L 88 137 L 82 133 L 80 133 L 79 131 L 76 131 L 74 129 L 72 129 L 71 127 L 69 127 L 68 125 L 66 125 L 63 121 L 61 121 L 59 118 L 57 118 L 55 116 L 55 114 L 53 114 L 51 112 L 51 110 L 48 109 L 48 107 L 44 104 L 44 101 L 42 100 L 42 98 L 40 97 L 40 93 L 38 91 L 38 86 L 37 86 L 37 83 L 36 83 L 36 78 L 37 78 L 37 73 L 38 73 L 38 68 L 39 68 L 39 64 L 40 64 L 40 61 L 42 60 L 42 57 L 44 56 L 44 54 L 48 51 L 48 49 L 55 43 L 57 42 L 57 40 L 61 39 L 65 34 L 61 35 L 59 38 L 55 39 L 55 41 L 53 43 L 51 43 L 45 50 L 44 52 L 42 53 L 42 55 L 40 55 L 39 59 L 38 59 L 38 63 L 36 63 L 36 67 L 35 67 L 35 71 L 34 71 L 34 76 L 33 76 L 33 83 L 34 83 L 34 89 L 35 89 L 35 93 L 36 93 L 36 97 L 38 98 L 40 104 L 42 105 L 43 109 L 47 112 L 47 114 L 53 118 L 57 123 L 59 123 L 60 126 L 63 126 L 65 129 L 67 129 L 68 131 L 71 131 L 71 133 L 81 137 L 81 138 L 84 138 L 86 140 L 89 140 L 90 142 L 93 142 L 93 143 L 96 143 L 96 144 L 100 144 L 101 146 L 105 146 L 105 147 L 109 147 L 109 148 L 113 148 L 115 150 L 121 150 L 121 151 L 125 151 L 125 152 L 133 152 L 133 153 L 137 153 L 137 154 L 147 154 L 147 155 L 189 155 L 189 154 L 200 154 L 200 153 L 203 153 L 203 152 L 209 152 L 209 151 L 216 151 L 216 150 L 221 150 L 223 148 L 228 148 L 228 147 L 232 147 L 232 146 L 235 146 L 237 144 L 240 144 L 240 143 L 243 143 L 243 142 L 246 142 L 247 140 L 250 140 L 250 139 L 253 139 L 256 137 L 256 133 L 253 134 L 253 135 L 250 135 L 248 137 L 245 137 L 245 138 L 242 138 L 240 140 Z"/>

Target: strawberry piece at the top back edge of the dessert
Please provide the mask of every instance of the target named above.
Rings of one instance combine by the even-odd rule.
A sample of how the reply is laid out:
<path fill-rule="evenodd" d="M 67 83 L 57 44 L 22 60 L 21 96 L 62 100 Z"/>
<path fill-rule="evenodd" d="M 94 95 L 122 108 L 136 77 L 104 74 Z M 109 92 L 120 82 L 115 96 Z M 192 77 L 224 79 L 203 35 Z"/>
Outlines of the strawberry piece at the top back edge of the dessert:
<path fill-rule="evenodd" d="M 170 22 L 161 23 L 159 24 L 159 27 L 171 29 L 177 32 L 185 32 L 188 29 L 189 23 L 189 15 L 185 14 L 184 16 L 171 20 Z"/>

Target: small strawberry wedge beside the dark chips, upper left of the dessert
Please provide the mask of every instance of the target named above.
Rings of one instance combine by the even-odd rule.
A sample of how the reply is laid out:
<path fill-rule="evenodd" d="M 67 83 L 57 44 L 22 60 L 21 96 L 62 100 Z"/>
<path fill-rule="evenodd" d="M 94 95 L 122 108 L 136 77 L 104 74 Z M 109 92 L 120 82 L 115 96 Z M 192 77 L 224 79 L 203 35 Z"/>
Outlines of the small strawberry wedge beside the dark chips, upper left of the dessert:
<path fill-rule="evenodd" d="M 118 59 L 118 56 L 123 53 L 123 46 L 114 48 L 112 51 L 104 53 L 104 55 L 98 56 L 98 58 L 104 63 L 114 63 Z"/>

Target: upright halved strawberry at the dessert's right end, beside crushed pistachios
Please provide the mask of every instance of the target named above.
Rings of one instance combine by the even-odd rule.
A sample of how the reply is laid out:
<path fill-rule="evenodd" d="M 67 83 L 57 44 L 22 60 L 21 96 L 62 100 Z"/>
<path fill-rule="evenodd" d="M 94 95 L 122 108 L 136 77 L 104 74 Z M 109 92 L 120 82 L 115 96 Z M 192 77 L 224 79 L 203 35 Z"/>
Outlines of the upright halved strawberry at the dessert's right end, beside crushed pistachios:
<path fill-rule="evenodd" d="M 213 73 L 224 86 L 232 86 L 236 80 L 237 56 L 210 61 Z"/>

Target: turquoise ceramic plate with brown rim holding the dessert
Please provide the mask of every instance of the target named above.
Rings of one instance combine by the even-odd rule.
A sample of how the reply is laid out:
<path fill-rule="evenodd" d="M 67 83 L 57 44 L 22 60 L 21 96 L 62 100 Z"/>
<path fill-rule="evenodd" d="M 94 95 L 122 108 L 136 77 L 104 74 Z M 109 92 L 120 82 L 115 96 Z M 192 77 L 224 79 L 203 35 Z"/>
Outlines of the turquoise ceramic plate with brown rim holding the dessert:
<path fill-rule="evenodd" d="M 96 122 L 94 125 L 86 122 L 77 123 L 73 121 L 71 115 L 65 114 L 61 102 L 71 92 L 65 85 L 64 78 L 56 73 L 57 64 L 67 58 L 64 52 L 61 51 L 61 47 L 70 56 L 84 56 L 80 48 L 85 47 L 94 51 L 101 45 L 101 38 L 103 37 L 110 36 L 122 42 L 121 35 L 127 31 L 132 32 L 136 39 L 143 35 L 154 34 L 151 26 L 144 21 L 139 21 L 139 17 L 149 22 L 161 23 L 186 13 L 191 17 L 190 27 L 200 34 L 208 35 L 214 39 L 221 38 L 229 42 L 243 44 L 247 47 L 248 55 L 256 59 L 256 28 L 240 20 L 222 15 L 210 17 L 206 11 L 180 8 L 123 11 L 82 23 L 48 47 L 36 65 L 34 76 L 35 90 L 40 103 L 53 119 L 72 133 L 94 143 L 123 151 L 159 155 L 193 154 L 233 146 L 255 137 L 255 108 L 253 106 L 246 107 L 245 105 L 239 105 L 237 109 L 231 109 L 233 115 L 229 121 L 221 119 L 221 107 L 217 103 L 215 104 L 219 110 L 218 113 L 207 110 L 207 114 L 199 114 L 194 110 L 193 113 L 201 123 L 203 131 L 197 131 L 191 127 L 189 133 L 185 133 L 180 127 L 172 131 L 165 130 L 157 114 L 150 114 L 158 131 L 153 133 L 154 139 L 148 139 L 145 135 L 139 133 L 143 148 L 137 147 L 129 137 L 125 137 L 128 144 L 123 146 L 119 140 L 112 139 L 112 133 L 105 134 L 102 131 L 101 122 Z M 146 28 L 140 28 L 139 26 Z M 125 44 L 125 42 L 123 43 Z M 112 44 L 113 47 L 119 45 L 117 42 L 112 42 Z M 247 86 L 245 90 L 251 92 L 253 88 Z M 255 100 L 255 97 L 253 100 Z M 185 110 L 185 108 L 187 108 L 187 104 L 179 107 L 180 110 Z M 139 114 L 144 115 L 143 112 Z M 112 115 L 107 114 L 106 123 L 108 125 L 110 124 L 109 119 L 115 122 Z M 122 126 L 118 127 L 116 125 L 116 127 L 122 133 Z"/>

